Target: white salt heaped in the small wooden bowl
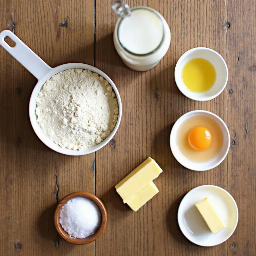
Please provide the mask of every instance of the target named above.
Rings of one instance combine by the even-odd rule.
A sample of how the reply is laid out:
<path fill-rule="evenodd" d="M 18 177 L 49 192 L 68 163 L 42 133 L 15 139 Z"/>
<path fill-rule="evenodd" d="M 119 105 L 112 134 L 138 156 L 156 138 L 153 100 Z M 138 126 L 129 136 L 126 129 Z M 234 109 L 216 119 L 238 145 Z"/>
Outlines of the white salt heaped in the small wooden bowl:
<path fill-rule="evenodd" d="M 75 197 L 60 211 L 60 225 L 70 238 L 85 238 L 93 235 L 100 226 L 99 207 L 90 199 Z"/>

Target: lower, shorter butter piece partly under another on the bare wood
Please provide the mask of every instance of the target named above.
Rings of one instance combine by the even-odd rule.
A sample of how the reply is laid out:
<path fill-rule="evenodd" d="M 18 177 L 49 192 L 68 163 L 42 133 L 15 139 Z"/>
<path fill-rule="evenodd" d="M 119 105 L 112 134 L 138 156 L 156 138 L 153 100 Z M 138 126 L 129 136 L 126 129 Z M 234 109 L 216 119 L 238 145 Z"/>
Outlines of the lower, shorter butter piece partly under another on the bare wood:
<path fill-rule="evenodd" d="M 150 181 L 149 184 L 142 188 L 135 196 L 132 196 L 127 204 L 132 208 L 134 212 L 138 211 L 141 206 L 146 204 L 153 196 L 159 192 L 153 181 Z"/>

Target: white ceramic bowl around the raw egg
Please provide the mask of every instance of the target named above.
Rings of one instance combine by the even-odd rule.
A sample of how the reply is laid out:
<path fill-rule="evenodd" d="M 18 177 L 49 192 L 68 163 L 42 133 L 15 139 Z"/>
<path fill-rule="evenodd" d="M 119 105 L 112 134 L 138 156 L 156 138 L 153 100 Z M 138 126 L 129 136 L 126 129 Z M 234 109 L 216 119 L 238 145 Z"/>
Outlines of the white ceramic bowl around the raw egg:
<path fill-rule="evenodd" d="M 192 160 L 189 160 L 185 156 L 183 156 L 180 153 L 179 148 L 177 147 L 177 133 L 179 131 L 179 127 L 183 124 L 184 121 L 186 121 L 188 118 L 192 116 L 207 116 L 212 118 L 220 126 L 220 129 L 223 134 L 223 146 L 220 153 L 207 162 L 193 162 Z M 170 135 L 170 146 L 173 156 L 184 167 L 193 171 L 208 171 L 218 166 L 227 156 L 230 147 L 230 134 L 227 125 L 219 116 L 209 111 L 195 110 L 184 114 L 175 122 L 175 124 L 172 127 Z"/>

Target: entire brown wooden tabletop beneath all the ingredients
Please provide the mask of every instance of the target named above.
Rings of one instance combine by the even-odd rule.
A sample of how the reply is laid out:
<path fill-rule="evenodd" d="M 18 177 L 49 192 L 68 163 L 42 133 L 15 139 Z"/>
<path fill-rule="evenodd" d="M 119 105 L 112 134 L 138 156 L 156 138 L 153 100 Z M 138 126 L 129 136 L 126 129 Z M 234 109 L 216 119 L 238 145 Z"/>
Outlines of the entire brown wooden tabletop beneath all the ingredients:
<path fill-rule="evenodd" d="M 117 55 L 111 3 L 0 2 L 0 30 L 12 30 L 52 67 L 83 62 L 100 68 L 116 84 L 123 103 L 111 143 L 87 156 L 60 155 L 37 138 L 29 122 L 36 78 L 0 48 L 0 255 L 256 255 L 255 1 L 128 1 L 155 8 L 171 28 L 170 49 L 147 72 L 125 67 Z M 227 88 L 207 102 L 189 100 L 174 82 L 175 63 L 197 46 L 219 52 L 229 69 Z M 178 164 L 169 146 L 173 123 L 195 109 L 219 115 L 231 135 L 227 158 L 207 172 Z M 148 156 L 164 170 L 155 182 L 160 192 L 133 212 L 114 186 Z M 204 184 L 228 190 L 239 208 L 233 236 L 210 248 L 189 242 L 177 223 L 182 197 Z M 79 190 L 96 193 L 108 211 L 104 234 L 82 246 L 60 239 L 53 224 L 57 202 Z"/>

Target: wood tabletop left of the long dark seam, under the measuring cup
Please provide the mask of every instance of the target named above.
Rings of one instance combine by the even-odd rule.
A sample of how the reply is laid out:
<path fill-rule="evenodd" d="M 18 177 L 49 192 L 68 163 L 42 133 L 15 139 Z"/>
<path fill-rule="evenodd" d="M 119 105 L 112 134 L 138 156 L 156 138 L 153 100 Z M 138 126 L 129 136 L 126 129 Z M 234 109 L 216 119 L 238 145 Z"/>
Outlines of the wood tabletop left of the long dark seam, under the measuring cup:
<path fill-rule="evenodd" d="M 8 16 L 12 3 L 4 2 Z M 15 34 L 52 67 L 93 64 L 93 8 L 92 1 L 15 0 Z M 44 146 L 28 118 L 36 79 L 4 49 L 0 54 L 6 60 L 1 64 L 1 217 L 8 224 L 1 226 L 2 234 L 7 234 L 1 238 L 1 255 L 93 255 L 93 243 L 73 246 L 57 237 L 53 213 L 57 201 L 68 193 L 94 192 L 94 154 L 69 157 Z"/>

